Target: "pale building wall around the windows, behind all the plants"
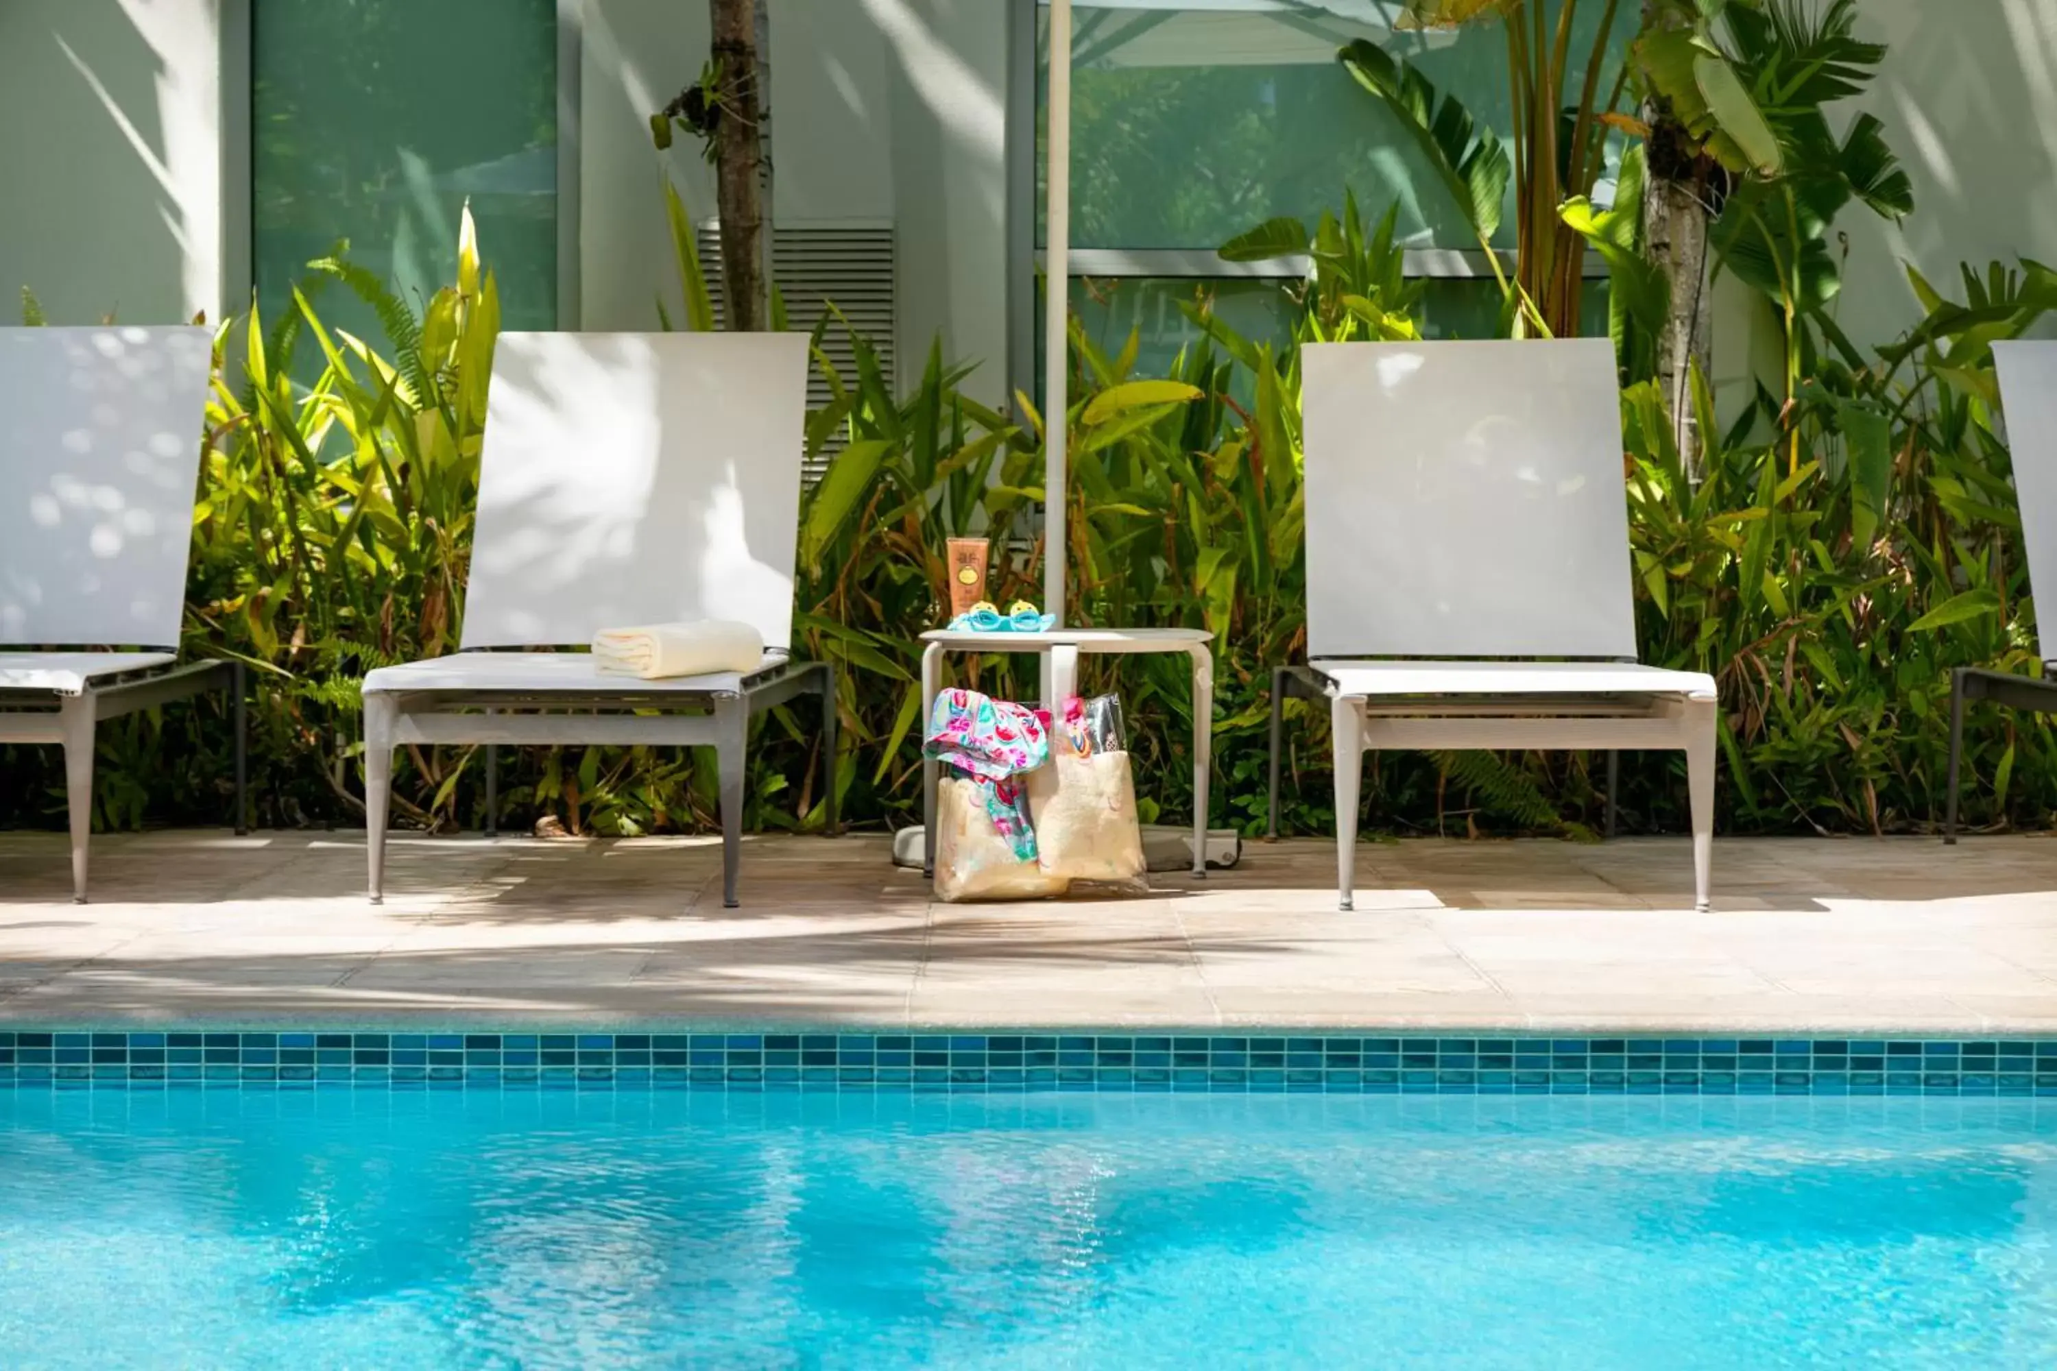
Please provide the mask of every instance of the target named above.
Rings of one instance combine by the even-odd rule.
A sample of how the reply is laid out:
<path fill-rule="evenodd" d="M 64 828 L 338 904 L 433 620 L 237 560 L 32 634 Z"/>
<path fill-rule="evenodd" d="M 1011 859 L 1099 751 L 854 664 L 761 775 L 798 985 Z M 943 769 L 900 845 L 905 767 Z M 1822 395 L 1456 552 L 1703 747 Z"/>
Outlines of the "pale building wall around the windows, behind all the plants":
<path fill-rule="evenodd" d="M 220 14 L 239 0 L 0 2 L 0 319 L 31 286 L 53 321 L 218 317 Z M 1006 393 L 1006 76 L 1010 0 L 771 0 L 775 214 L 891 222 L 899 351 L 932 337 Z M 666 166 L 714 212 L 693 146 L 662 158 L 648 115 L 699 74 L 701 0 L 582 0 L 580 327 L 648 329 L 677 298 L 658 193 Z M 1915 214 L 1845 214 L 1853 337 L 1917 314 L 1901 261 L 1946 292 L 1956 263 L 2057 263 L 2057 0 L 1866 0 L 1888 43 L 1866 105 L 1915 183 Z M 243 82 L 230 82 L 239 95 Z M 245 127 L 245 119 L 226 119 Z M 230 187 L 230 193 L 245 193 Z M 1757 362 L 1753 302 L 1724 290 L 1716 374 L 1734 397 Z M 574 321 L 566 321 L 574 323 Z"/>

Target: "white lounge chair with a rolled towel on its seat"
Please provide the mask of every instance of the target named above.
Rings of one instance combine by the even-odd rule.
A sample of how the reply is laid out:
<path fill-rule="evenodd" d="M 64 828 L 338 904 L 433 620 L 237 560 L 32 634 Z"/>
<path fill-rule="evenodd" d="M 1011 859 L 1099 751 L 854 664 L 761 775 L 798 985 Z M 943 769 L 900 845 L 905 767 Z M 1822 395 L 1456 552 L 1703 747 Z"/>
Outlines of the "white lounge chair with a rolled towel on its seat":
<path fill-rule="evenodd" d="M 749 717 L 821 695 L 835 828 L 835 674 L 790 660 L 804 425 L 804 335 L 500 335 L 459 654 L 364 678 L 374 902 L 393 748 L 407 742 L 716 748 L 734 906 Z M 763 662 L 638 680 L 584 652 L 539 652 L 691 619 L 753 625 Z"/>

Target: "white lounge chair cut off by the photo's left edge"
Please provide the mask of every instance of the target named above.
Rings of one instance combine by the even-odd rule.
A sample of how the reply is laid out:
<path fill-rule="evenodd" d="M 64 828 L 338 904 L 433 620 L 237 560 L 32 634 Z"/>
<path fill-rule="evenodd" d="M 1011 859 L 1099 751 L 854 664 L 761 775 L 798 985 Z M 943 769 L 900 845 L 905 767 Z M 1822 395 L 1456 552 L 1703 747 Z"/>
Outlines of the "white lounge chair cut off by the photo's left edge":
<path fill-rule="evenodd" d="M 95 726 L 234 691 L 179 664 L 212 335 L 200 327 L 0 329 L 0 742 L 64 748 L 72 898 L 86 900 Z"/>

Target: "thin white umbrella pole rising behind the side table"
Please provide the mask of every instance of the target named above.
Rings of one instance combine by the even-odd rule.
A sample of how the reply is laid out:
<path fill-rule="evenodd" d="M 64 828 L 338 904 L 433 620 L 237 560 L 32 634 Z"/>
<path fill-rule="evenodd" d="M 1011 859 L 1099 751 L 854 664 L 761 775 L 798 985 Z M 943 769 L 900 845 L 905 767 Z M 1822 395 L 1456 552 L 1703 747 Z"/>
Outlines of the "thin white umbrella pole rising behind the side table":
<path fill-rule="evenodd" d="M 1072 288 L 1072 0 L 1049 0 L 1049 183 L 1043 255 L 1043 610 L 1063 627 L 1066 349 Z"/>

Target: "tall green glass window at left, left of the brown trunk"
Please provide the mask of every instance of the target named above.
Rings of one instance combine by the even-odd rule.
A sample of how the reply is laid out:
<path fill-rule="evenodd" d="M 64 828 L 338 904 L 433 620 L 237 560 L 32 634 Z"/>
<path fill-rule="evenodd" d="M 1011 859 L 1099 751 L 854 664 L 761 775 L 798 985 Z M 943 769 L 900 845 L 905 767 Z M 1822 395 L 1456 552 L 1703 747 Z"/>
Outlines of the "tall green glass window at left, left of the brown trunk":
<path fill-rule="evenodd" d="M 265 317 L 337 238 L 420 304 L 465 199 L 508 329 L 557 321 L 555 0 L 251 6 L 251 265 Z M 329 286 L 323 321 L 378 339 Z"/>

